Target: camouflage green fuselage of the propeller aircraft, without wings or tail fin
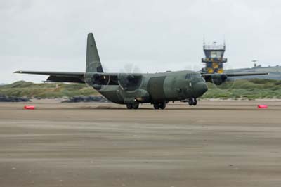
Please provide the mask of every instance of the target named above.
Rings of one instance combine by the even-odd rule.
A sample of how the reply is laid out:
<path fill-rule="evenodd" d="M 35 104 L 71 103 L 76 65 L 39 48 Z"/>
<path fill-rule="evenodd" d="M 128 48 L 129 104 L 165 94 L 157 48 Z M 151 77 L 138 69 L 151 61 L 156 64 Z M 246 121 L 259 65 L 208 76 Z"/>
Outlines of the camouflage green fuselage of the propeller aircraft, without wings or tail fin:
<path fill-rule="evenodd" d="M 87 75 L 86 75 L 87 76 Z M 130 76 L 125 74 L 125 76 Z M 97 89 L 100 94 L 113 103 L 163 103 L 169 101 L 187 101 L 198 98 L 207 90 L 207 84 L 200 73 L 192 71 L 162 72 L 141 74 L 140 84 L 134 89 L 119 85 L 96 86 L 91 79 L 87 84 Z M 136 83 L 133 83 L 136 85 Z"/>

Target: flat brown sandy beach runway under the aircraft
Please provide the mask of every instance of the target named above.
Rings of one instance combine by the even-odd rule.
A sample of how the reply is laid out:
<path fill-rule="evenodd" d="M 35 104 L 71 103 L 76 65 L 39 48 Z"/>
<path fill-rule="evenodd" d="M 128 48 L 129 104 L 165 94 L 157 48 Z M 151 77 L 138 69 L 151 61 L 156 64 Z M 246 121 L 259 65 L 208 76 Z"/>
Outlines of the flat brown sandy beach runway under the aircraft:
<path fill-rule="evenodd" d="M 0 103 L 0 186 L 281 186 L 280 101 L 23 105 Z"/>

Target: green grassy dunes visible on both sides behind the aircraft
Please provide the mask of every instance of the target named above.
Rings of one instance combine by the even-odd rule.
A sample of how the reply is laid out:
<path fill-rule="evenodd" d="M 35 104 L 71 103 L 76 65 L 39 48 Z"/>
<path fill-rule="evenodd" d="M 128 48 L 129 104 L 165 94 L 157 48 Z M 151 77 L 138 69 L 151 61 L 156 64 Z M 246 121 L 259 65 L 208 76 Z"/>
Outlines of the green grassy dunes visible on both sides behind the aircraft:
<path fill-rule="evenodd" d="M 208 83 L 202 98 L 281 98 L 281 81 L 271 79 L 239 79 L 221 86 Z M 0 86 L 0 95 L 27 98 L 63 98 L 96 96 L 98 92 L 86 84 L 14 82 Z"/>

